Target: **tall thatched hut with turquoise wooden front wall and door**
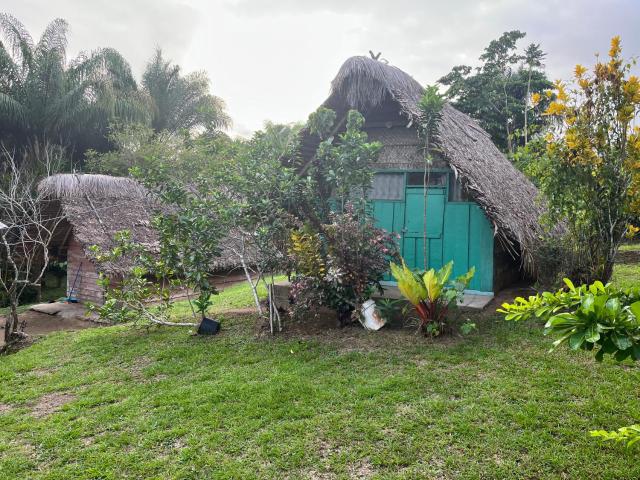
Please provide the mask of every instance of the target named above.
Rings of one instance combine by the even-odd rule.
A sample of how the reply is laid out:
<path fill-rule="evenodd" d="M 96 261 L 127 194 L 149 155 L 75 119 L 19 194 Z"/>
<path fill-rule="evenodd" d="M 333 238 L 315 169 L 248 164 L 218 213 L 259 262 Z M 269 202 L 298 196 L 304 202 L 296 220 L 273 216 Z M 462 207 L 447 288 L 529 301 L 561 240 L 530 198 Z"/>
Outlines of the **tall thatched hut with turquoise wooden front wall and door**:
<path fill-rule="evenodd" d="M 542 212 L 537 189 L 475 120 L 445 104 L 427 185 L 424 265 L 425 155 L 416 127 L 423 92 L 397 67 L 352 57 L 323 106 L 337 113 L 338 131 L 350 109 L 360 111 L 369 139 L 383 143 L 369 199 L 379 226 L 400 234 L 409 266 L 440 267 L 453 260 L 455 274 L 475 266 L 470 289 L 497 292 L 535 270 L 532 249 Z M 317 137 L 306 132 L 302 145 L 303 157 L 313 161 Z"/>

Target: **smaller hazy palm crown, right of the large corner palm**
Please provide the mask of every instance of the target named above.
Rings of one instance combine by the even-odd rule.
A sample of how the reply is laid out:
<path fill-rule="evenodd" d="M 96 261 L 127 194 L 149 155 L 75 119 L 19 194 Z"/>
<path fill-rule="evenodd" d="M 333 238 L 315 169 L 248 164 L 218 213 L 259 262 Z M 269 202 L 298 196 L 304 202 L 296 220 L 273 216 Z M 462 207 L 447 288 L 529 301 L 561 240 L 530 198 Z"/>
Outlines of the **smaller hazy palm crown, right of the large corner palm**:
<path fill-rule="evenodd" d="M 151 124 L 156 132 L 197 128 L 212 132 L 231 124 L 224 101 L 209 93 L 207 74 L 181 76 L 180 66 L 166 61 L 159 48 L 147 64 L 142 85 L 153 100 Z"/>

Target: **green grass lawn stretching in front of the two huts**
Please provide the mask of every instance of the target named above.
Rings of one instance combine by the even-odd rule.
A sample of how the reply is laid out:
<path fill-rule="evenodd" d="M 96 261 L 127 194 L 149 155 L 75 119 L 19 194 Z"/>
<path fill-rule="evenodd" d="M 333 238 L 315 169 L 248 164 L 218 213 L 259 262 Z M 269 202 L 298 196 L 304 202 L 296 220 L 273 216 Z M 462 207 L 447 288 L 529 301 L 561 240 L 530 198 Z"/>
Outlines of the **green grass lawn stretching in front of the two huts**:
<path fill-rule="evenodd" d="M 640 369 L 547 353 L 536 323 L 432 342 L 218 316 L 216 337 L 96 328 L 0 357 L 0 478 L 640 478 L 638 450 L 588 436 L 640 420 Z"/>

